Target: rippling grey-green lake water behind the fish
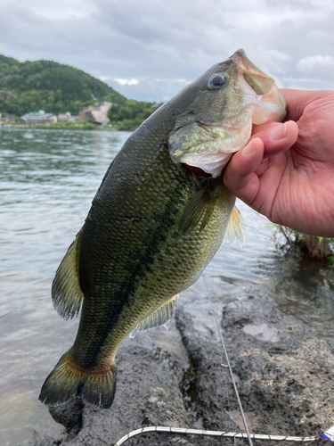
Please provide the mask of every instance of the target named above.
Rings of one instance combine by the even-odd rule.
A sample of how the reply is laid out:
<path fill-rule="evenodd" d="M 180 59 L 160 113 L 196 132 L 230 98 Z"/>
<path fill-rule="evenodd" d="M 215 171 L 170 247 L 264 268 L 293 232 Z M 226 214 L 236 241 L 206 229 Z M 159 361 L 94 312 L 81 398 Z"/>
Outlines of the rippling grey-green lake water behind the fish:
<path fill-rule="evenodd" d="M 127 132 L 0 130 L 0 438 L 16 446 L 63 428 L 37 401 L 73 342 L 77 319 L 53 310 L 51 283 Z M 223 299 L 257 285 L 282 312 L 334 339 L 334 270 L 275 249 L 267 220 L 239 203 L 247 245 L 223 244 L 205 271 Z M 195 305 L 201 285 L 187 290 Z"/>

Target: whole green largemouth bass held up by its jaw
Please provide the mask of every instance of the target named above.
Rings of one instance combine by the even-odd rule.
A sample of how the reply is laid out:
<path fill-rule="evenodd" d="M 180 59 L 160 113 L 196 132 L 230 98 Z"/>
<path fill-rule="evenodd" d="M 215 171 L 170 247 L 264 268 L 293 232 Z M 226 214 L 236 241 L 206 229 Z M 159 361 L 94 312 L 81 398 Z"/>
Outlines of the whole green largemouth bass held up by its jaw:
<path fill-rule="evenodd" d="M 274 79 L 241 49 L 129 136 L 55 273 L 55 310 L 80 320 L 40 401 L 54 406 L 81 398 L 110 408 L 115 357 L 126 336 L 173 318 L 178 294 L 198 280 L 224 236 L 244 244 L 224 166 L 248 143 L 253 124 L 286 115 Z"/>

